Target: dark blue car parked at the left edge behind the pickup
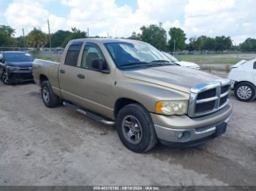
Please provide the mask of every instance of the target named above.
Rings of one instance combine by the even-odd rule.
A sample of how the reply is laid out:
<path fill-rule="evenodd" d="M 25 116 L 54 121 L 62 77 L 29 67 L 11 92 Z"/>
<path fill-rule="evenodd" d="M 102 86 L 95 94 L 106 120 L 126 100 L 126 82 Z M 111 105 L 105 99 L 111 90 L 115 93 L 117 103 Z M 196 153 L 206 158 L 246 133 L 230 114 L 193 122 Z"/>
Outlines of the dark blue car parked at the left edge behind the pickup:
<path fill-rule="evenodd" d="M 0 52 L 0 76 L 6 85 L 16 82 L 32 81 L 34 58 L 27 52 Z"/>

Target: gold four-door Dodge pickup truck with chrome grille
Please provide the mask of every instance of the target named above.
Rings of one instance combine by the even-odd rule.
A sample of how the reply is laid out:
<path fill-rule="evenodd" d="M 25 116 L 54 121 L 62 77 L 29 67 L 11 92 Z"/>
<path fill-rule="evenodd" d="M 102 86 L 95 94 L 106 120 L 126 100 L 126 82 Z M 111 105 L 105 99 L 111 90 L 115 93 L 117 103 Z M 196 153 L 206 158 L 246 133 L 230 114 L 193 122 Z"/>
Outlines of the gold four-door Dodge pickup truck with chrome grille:
<path fill-rule="evenodd" d="M 34 81 L 45 106 L 64 106 L 116 125 L 122 143 L 146 152 L 157 141 L 192 147 L 225 133 L 230 79 L 166 61 L 145 42 L 75 39 L 60 63 L 36 59 Z"/>

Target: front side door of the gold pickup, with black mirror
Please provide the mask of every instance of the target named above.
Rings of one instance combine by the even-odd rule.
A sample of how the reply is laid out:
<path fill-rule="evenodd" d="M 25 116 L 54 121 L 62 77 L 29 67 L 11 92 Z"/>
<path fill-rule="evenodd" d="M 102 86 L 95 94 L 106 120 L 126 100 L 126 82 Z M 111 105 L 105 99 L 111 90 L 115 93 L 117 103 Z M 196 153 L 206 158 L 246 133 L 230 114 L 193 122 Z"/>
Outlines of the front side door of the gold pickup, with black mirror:
<path fill-rule="evenodd" d="M 91 66 L 94 59 L 104 59 L 101 49 L 97 44 L 86 42 L 83 48 L 80 62 L 79 74 L 84 77 L 80 78 L 77 83 L 78 94 L 83 98 L 81 106 L 93 112 L 107 116 L 110 112 L 110 92 L 111 85 L 114 81 L 114 72 L 107 67 L 106 73 L 97 71 Z"/>

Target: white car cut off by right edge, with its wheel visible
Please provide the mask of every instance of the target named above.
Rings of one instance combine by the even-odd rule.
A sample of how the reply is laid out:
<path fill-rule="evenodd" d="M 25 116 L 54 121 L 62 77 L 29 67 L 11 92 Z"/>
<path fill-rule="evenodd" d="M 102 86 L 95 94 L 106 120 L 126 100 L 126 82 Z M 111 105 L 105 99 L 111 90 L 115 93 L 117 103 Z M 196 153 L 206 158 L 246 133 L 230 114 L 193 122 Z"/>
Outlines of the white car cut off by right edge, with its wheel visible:
<path fill-rule="evenodd" d="M 256 58 L 240 61 L 231 67 L 228 78 L 231 88 L 239 101 L 252 101 L 256 98 Z"/>

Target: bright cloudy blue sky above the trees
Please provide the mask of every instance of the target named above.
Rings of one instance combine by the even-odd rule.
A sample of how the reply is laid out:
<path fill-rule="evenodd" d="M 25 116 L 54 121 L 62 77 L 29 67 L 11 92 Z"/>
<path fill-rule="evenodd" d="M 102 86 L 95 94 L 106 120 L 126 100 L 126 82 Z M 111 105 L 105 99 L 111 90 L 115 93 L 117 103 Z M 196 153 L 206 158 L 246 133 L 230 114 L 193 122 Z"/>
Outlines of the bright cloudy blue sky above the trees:
<path fill-rule="evenodd" d="M 141 26 L 162 23 L 191 36 L 231 36 L 233 44 L 256 38 L 256 0 L 0 0 L 0 24 L 15 36 L 34 27 L 48 32 L 72 27 L 90 36 L 128 37 Z"/>

